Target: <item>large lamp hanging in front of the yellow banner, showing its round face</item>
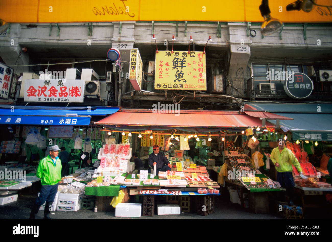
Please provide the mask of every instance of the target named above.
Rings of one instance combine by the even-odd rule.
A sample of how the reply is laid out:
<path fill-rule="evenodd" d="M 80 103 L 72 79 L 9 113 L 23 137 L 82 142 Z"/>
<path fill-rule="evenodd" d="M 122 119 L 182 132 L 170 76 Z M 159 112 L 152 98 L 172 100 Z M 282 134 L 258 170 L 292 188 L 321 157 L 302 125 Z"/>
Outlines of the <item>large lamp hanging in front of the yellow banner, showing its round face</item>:
<path fill-rule="evenodd" d="M 264 18 L 264 22 L 261 26 L 261 34 L 268 36 L 278 32 L 283 24 L 279 19 L 271 18 L 269 0 L 262 0 L 262 4 L 259 6 L 259 10 L 261 11 L 261 15 Z"/>

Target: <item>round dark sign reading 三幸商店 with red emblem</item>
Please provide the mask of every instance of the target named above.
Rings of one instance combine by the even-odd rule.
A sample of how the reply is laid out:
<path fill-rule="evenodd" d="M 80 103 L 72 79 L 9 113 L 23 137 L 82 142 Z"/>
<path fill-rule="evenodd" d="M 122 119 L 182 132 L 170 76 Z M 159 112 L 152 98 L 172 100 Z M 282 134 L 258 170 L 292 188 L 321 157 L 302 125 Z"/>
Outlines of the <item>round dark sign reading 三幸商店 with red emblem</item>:
<path fill-rule="evenodd" d="M 291 98 L 302 99 L 311 94 L 313 83 L 306 74 L 296 72 L 284 82 L 284 90 Z"/>

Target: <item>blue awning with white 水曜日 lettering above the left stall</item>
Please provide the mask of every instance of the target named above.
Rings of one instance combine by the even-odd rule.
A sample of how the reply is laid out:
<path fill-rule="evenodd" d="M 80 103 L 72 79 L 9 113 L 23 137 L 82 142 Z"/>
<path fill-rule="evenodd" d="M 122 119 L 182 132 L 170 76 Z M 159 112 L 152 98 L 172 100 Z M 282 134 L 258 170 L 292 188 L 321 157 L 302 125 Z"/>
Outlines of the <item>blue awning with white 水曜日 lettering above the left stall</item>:
<path fill-rule="evenodd" d="M 91 116 L 116 113 L 119 107 L 44 107 L 0 105 L 0 124 L 90 125 Z"/>

